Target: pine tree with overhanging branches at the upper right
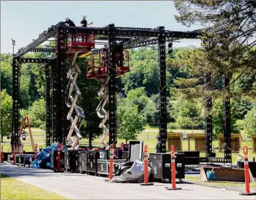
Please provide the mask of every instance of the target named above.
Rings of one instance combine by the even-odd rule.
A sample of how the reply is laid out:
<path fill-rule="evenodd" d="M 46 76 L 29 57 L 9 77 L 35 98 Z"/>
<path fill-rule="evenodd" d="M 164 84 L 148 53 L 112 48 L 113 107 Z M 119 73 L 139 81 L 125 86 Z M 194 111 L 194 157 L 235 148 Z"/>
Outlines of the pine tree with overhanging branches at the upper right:
<path fill-rule="evenodd" d="M 212 75 L 233 74 L 231 82 L 236 82 L 252 75 L 253 80 L 247 79 L 247 87 L 239 93 L 254 98 L 255 61 L 256 61 L 256 4 L 253 1 L 176 1 L 175 7 L 179 23 L 185 26 L 198 24 L 207 27 L 214 24 L 212 32 L 204 31 L 199 38 L 203 40 L 203 48 L 192 50 L 182 59 L 185 67 L 191 72 Z M 216 31 L 223 27 L 221 31 Z M 250 90 L 248 91 L 248 88 Z M 225 88 L 227 89 L 227 88 Z M 219 91 L 221 93 L 221 91 Z M 212 91 L 217 96 L 220 93 Z"/>

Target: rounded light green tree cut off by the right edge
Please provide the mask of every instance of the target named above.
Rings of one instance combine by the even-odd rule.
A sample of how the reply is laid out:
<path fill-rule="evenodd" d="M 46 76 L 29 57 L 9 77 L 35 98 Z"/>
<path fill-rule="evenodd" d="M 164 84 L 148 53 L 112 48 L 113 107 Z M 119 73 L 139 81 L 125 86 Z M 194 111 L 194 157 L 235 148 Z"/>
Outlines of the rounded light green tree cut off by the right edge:
<path fill-rule="evenodd" d="M 251 110 L 245 115 L 245 121 L 243 123 L 245 127 L 245 133 L 251 136 L 256 134 L 256 106 L 252 107 Z"/>

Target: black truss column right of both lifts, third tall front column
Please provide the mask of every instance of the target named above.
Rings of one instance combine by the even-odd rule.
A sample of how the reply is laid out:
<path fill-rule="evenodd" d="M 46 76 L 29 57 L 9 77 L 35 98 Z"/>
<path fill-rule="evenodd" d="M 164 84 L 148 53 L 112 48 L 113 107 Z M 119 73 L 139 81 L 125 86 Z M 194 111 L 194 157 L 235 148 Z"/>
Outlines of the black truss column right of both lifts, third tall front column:
<path fill-rule="evenodd" d="M 167 107 L 166 107 L 166 50 L 164 27 L 159 27 L 159 134 L 160 153 L 166 153 L 167 143 Z"/>

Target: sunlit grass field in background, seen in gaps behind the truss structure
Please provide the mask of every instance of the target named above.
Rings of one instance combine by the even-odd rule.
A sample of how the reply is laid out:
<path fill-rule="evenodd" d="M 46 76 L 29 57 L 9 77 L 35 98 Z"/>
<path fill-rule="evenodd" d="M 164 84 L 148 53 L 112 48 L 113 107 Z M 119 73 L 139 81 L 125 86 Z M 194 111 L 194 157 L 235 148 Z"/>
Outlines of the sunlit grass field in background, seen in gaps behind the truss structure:
<path fill-rule="evenodd" d="M 178 129 L 178 130 L 173 130 L 175 132 L 180 132 L 182 133 L 184 130 L 182 129 Z M 191 133 L 191 130 L 185 130 L 186 133 Z M 138 140 L 142 140 L 144 141 L 144 144 L 147 144 L 148 146 L 148 152 L 149 153 L 154 153 L 156 152 L 156 136 L 159 133 L 159 128 L 158 127 L 150 127 L 150 126 L 146 126 L 145 130 L 142 131 L 142 133 L 138 136 Z M 193 133 L 203 133 L 202 130 L 194 130 Z M 38 128 L 32 128 L 32 134 L 33 134 L 33 140 L 34 143 L 38 144 L 39 146 L 45 147 L 45 131 L 39 130 Z M 243 133 L 243 131 L 241 131 L 242 137 L 245 137 L 245 134 Z M 99 144 L 100 141 L 100 137 L 95 139 L 93 141 L 94 144 Z M 108 141 L 108 137 L 106 137 L 106 141 Z M 5 143 L 4 146 L 4 152 L 7 152 L 8 149 L 10 148 L 10 140 L 7 140 L 6 138 L 4 138 L 4 142 Z M 30 141 L 30 137 L 28 136 L 27 139 L 25 141 L 22 141 L 24 144 L 28 144 L 28 145 L 24 145 L 24 149 L 27 152 L 31 152 L 32 151 L 32 147 L 31 147 L 31 141 Z M 88 139 L 83 139 L 80 141 L 80 145 L 87 145 L 89 142 Z M 120 144 L 121 142 L 125 143 L 125 140 L 121 140 L 118 139 L 118 144 Z M 218 141 L 213 141 L 213 146 L 218 146 Z M 249 148 L 252 148 L 252 142 L 251 141 L 242 141 L 242 146 L 248 146 Z M 190 146 L 191 149 L 190 150 L 194 150 L 194 140 L 190 141 Z M 183 150 L 188 150 L 188 141 L 187 140 L 183 140 L 182 141 L 182 147 Z M 9 151 L 11 151 L 11 149 L 9 149 Z M 222 152 L 218 152 L 218 149 L 216 150 L 216 154 L 218 158 L 223 158 L 224 153 Z M 200 153 L 201 157 L 205 156 L 204 152 Z M 252 157 L 256 157 L 256 153 L 249 153 L 249 159 L 251 159 Z M 236 162 L 237 161 L 237 153 L 232 153 L 232 162 Z"/>

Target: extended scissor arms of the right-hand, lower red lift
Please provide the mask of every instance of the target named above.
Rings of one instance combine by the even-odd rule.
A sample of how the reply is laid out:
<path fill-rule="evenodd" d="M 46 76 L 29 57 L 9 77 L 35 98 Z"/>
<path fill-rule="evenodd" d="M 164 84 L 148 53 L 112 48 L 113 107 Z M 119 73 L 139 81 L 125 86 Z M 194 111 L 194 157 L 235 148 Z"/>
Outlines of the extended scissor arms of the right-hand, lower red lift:
<path fill-rule="evenodd" d="M 109 131 L 108 128 L 106 128 L 106 120 L 108 119 L 108 112 L 104 109 L 106 103 L 108 103 L 108 81 L 109 77 L 100 79 L 102 81 L 102 86 L 97 93 L 98 96 L 102 97 L 100 100 L 99 105 L 97 106 L 96 112 L 97 116 L 99 118 L 102 118 L 102 121 L 100 122 L 99 128 L 103 128 L 105 131 L 105 134 L 102 136 L 102 139 L 100 140 L 100 144 L 103 144 L 106 149 L 109 149 L 109 145 L 105 142 L 106 136 L 108 136 Z"/>

